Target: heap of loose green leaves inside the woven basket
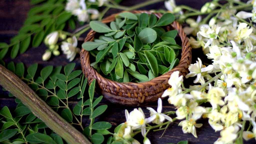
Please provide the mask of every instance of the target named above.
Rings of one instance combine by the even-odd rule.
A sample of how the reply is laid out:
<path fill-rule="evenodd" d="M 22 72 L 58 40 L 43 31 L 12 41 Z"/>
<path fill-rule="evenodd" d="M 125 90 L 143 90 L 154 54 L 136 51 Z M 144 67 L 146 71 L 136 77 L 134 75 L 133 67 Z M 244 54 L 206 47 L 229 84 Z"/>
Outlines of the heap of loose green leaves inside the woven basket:
<path fill-rule="evenodd" d="M 104 35 L 82 47 L 95 57 L 91 66 L 105 77 L 119 82 L 148 81 L 179 63 L 176 57 L 181 47 L 174 39 L 177 30 L 166 32 L 163 28 L 174 19 L 171 13 L 157 20 L 154 14 L 124 12 L 109 26 L 91 21 L 91 28 Z"/>

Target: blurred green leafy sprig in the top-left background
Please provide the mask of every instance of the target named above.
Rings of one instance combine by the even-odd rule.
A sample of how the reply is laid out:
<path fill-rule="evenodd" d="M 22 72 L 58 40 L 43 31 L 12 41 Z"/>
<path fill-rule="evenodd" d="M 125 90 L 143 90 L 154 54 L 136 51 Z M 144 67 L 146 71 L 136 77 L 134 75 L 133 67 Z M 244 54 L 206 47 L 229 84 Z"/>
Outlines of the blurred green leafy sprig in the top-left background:
<path fill-rule="evenodd" d="M 36 5 L 28 12 L 28 17 L 18 32 L 10 40 L 10 44 L 0 43 L 0 59 L 3 59 L 10 50 L 10 57 L 23 54 L 28 47 L 38 47 L 44 38 L 55 30 L 62 30 L 66 24 L 76 28 L 74 18 L 65 11 L 65 0 L 31 0 Z"/>

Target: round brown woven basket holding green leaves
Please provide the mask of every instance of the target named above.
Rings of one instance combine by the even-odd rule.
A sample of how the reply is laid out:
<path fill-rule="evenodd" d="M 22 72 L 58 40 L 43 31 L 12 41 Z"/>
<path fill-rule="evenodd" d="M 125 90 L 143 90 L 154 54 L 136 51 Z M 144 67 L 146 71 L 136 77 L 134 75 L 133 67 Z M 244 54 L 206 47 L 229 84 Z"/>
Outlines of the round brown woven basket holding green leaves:
<path fill-rule="evenodd" d="M 132 11 L 132 13 L 147 13 L 148 11 Z M 161 13 L 153 13 L 158 18 L 162 16 Z M 115 20 L 115 16 L 118 14 L 113 14 L 102 20 L 102 23 L 110 23 Z M 96 79 L 99 87 L 99 91 L 102 95 L 113 103 L 119 103 L 122 105 L 133 105 L 138 106 L 141 104 L 146 104 L 152 101 L 156 101 L 162 96 L 164 90 L 169 87 L 168 79 L 174 71 L 180 71 L 180 75 L 186 75 L 188 73 L 188 66 L 191 63 L 191 47 L 188 42 L 188 38 L 184 33 L 182 26 L 178 22 L 173 22 L 171 25 L 166 27 L 167 30 L 176 29 L 178 30 L 178 35 L 182 41 L 182 53 L 179 64 L 168 71 L 162 76 L 156 77 L 150 81 L 143 83 L 119 83 L 112 81 L 101 76 L 93 67 L 90 66 L 89 52 L 82 49 L 80 53 L 82 71 L 86 77 L 88 77 L 89 83 L 93 79 Z M 85 42 L 93 41 L 96 32 L 91 30 Z"/>

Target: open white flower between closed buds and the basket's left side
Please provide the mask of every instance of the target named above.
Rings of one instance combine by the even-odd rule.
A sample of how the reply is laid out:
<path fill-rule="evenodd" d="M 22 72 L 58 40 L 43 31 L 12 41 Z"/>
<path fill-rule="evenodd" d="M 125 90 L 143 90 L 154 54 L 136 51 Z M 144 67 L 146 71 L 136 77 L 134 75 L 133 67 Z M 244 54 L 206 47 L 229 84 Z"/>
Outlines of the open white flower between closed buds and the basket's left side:
<path fill-rule="evenodd" d="M 62 42 L 61 50 L 65 55 L 67 55 L 67 59 L 72 61 L 76 54 L 79 53 L 80 49 L 77 48 L 77 38 L 75 36 L 73 36 L 72 39 L 69 39 L 68 41 L 70 42 Z"/>

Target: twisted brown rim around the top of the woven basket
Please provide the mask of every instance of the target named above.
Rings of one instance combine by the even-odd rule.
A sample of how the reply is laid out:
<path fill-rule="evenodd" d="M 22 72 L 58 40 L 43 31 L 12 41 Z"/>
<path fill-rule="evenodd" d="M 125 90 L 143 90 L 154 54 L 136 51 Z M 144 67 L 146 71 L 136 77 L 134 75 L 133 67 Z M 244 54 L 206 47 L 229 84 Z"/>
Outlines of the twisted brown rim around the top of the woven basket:
<path fill-rule="evenodd" d="M 125 11 L 124 11 L 125 12 Z M 151 12 L 149 12 L 149 11 L 143 11 L 143 10 L 139 10 L 139 11 L 130 11 L 130 12 L 132 12 L 132 13 L 148 13 L 148 14 L 155 14 L 158 18 L 160 18 L 161 16 L 162 16 L 162 14 L 161 13 L 151 13 Z M 121 12 L 122 13 L 122 12 Z M 106 21 L 106 20 L 108 20 L 108 18 L 109 17 L 113 17 L 113 16 L 116 16 L 116 15 L 118 15 L 119 13 L 115 13 L 115 14 L 112 14 L 112 15 L 110 15 L 110 16 L 108 16 L 108 17 L 106 17 L 106 18 L 104 18 L 103 20 L 102 20 L 102 22 L 103 23 L 110 23 L 111 21 L 113 21 L 113 20 L 111 20 L 111 21 Z M 170 24 L 169 26 L 171 26 L 173 29 L 176 29 L 176 30 L 178 30 L 178 34 L 179 34 L 179 37 L 180 37 L 180 39 L 182 40 L 182 53 L 181 53 L 181 58 L 180 58 L 180 61 L 179 61 L 179 64 L 177 65 L 177 66 L 175 66 L 172 70 L 170 70 L 170 71 L 168 71 L 167 73 L 165 73 L 165 74 L 163 74 L 163 75 L 161 75 L 161 76 L 158 76 L 158 77 L 156 77 L 156 78 L 154 78 L 154 79 L 151 79 L 150 81 L 146 81 L 146 82 L 141 82 L 141 83 L 134 83 L 134 82 L 128 82 L 128 83 L 123 83 L 123 82 L 117 82 L 117 81 L 113 81 L 113 80 L 110 80 L 110 79 L 107 79 L 107 78 L 105 78 L 105 77 L 103 77 L 103 76 L 101 76 L 93 67 L 91 67 L 90 66 L 90 59 L 89 59 L 89 65 L 88 65 L 88 68 L 87 69 L 94 69 L 94 72 L 95 72 L 95 75 L 97 75 L 97 78 L 95 78 L 95 77 L 93 77 L 93 78 L 95 78 L 97 81 L 98 81 L 98 83 L 100 83 L 100 82 L 102 82 L 103 81 L 103 83 L 104 83 L 104 81 L 109 81 L 109 82 L 111 82 L 111 83 L 113 83 L 114 85 L 116 85 L 117 87 L 119 87 L 120 85 L 125 85 L 125 87 L 127 87 L 127 88 L 129 88 L 129 89 L 136 89 L 136 88 L 134 88 L 133 86 L 134 85 L 136 85 L 136 87 L 139 89 L 139 88 L 141 88 L 141 87 L 144 87 L 145 85 L 146 86 L 150 86 L 150 85 L 154 85 L 153 83 L 151 84 L 151 82 L 152 81 L 157 81 L 157 80 L 159 80 L 159 79 L 166 79 L 166 76 L 168 76 L 168 79 L 169 79 L 169 77 L 170 77 L 170 72 L 171 71 L 173 71 L 176 67 L 179 67 L 182 63 L 184 63 L 184 62 L 187 62 L 187 64 L 186 65 L 184 65 L 184 66 L 182 66 L 183 67 L 183 70 L 185 70 L 186 72 L 185 73 L 188 73 L 188 70 L 187 70 L 187 68 L 188 68 L 188 65 L 191 63 L 191 47 L 190 47 L 190 45 L 189 45 L 189 42 L 188 42 L 188 40 L 187 40 L 187 42 L 186 43 L 188 43 L 188 44 L 186 44 L 186 46 L 188 46 L 188 47 L 184 47 L 183 45 L 184 45 L 184 41 L 183 41 L 183 38 L 184 39 L 186 39 L 187 38 L 187 36 L 186 36 L 186 34 L 184 33 L 184 31 L 183 31 L 183 29 L 182 29 L 182 26 L 178 23 L 178 22 L 176 22 L 176 21 L 174 21 L 172 24 Z M 180 31 L 179 31 L 180 30 Z M 88 41 L 93 41 L 93 39 L 94 39 L 94 35 L 96 34 L 96 32 L 94 32 L 93 30 L 90 30 L 90 32 L 88 33 L 88 35 L 87 35 L 87 37 L 85 38 L 85 40 L 84 40 L 84 42 L 88 42 Z M 188 38 L 187 38 L 188 39 Z M 186 53 L 190 53 L 190 56 L 189 56 L 189 58 L 185 61 L 182 61 L 182 59 L 184 58 L 184 55 L 186 55 L 186 53 L 184 53 L 183 52 L 183 49 L 187 49 L 187 51 L 188 52 L 186 52 Z M 85 53 L 86 52 L 86 53 Z M 85 70 L 85 68 L 83 67 L 83 63 L 84 63 L 84 59 L 85 58 L 89 58 L 90 57 L 90 54 L 88 54 L 89 52 L 88 51 L 86 51 L 85 49 L 83 49 L 82 48 L 82 50 L 81 50 L 81 56 L 80 56 L 80 59 L 81 59 L 81 66 L 82 66 L 82 70 L 83 70 L 83 73 L 84 73 L 84 70 Z M 180 71 L 180 70 L 179 70 Z M 172 72 L 171 72 L 172 73 Z M 182 73 L 180 73 L 179 75 L 184 75 L 184 74 L 182 74 Z M 89 78 L 89 77 L 88 77 Z M 89 83 L 90 83 L 91 81 L 89 81 Z M 155 83 L 155 82 L 154 82 Z M 112 85 L 113 86 L 113 85 Z M 102 88 L 101 88 L 102 89 Z M 166 89 L 166 88 L 165 88 Z M 102 89 L 102 93 L 104 93 L 104 90 Z M 155 95 L 158 95 L 158 94 L 155 94 Z M 120 95 L 117 95 L 117 96 L 120 96 Z M 120 96 L 120 97 L 124 97 L 124 96 Z M 159 96 L 158 96 L 159 97 Z M 128 98 L 128 97 L 126 97 L 126 98 Z M 141 100 L 141 101 L 144 101 L 144 100 Z"/>

